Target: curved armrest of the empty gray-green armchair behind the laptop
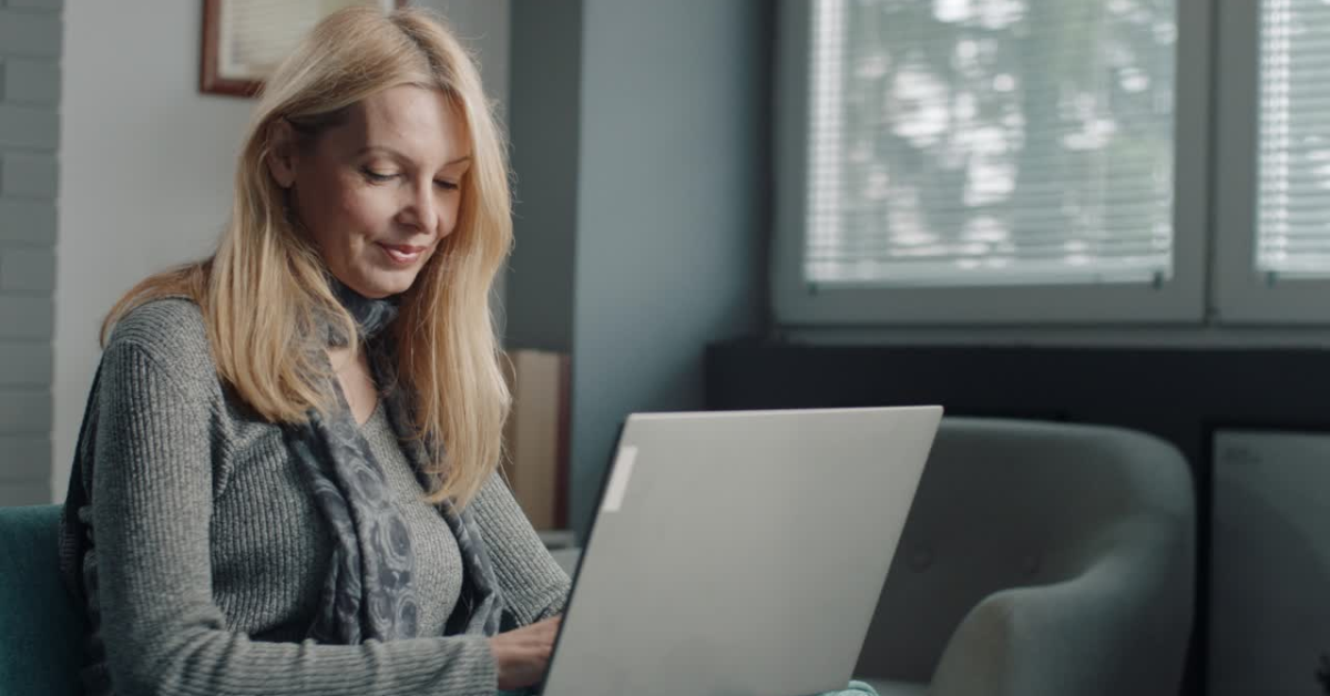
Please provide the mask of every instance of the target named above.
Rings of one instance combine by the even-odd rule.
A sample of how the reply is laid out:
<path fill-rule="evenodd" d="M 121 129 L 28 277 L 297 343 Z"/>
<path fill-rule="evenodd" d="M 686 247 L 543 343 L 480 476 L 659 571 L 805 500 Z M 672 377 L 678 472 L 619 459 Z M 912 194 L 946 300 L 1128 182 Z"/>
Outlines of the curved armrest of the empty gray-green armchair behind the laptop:
<path fill-rule="evenodd" d="M 1003 590 L 975 606 L 947 643 L 930 693 L 1176 695 L 1192 619 L 1190 538 L 1156 524 L 1123 527 L 1136 539 L 1115 543 L 1075 578 Z"/>

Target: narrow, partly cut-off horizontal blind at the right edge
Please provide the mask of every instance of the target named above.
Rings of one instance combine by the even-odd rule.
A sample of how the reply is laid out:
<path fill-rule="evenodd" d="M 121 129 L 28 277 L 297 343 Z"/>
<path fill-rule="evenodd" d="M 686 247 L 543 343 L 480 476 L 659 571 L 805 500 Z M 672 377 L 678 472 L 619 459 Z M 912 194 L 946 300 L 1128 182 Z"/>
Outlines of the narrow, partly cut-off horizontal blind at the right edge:
<path fill-rule="evenodd" d="M 1330 5 L 1261 5 L 1256 267 L 1330 277 Z"/>

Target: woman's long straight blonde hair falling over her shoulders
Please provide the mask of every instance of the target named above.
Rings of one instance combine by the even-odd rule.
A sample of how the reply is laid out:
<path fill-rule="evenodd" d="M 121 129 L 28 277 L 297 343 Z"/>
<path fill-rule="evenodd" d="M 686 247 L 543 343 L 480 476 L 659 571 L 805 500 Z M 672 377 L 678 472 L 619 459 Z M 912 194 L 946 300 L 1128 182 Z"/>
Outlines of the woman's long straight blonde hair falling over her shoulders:
<path fill-rule="evenodd" d="M 140 282 L 102 323 L 152 299 L 186 295 L 202 309 L 219 377 L 263 418 L 297 423 L 327 413 L 326 363 L 309 350 L 325 321 L 354 335 L 326 266 L 285 212 L 267 168 L 273 124 L 306 138 L 346 109 L 396 85 L 439 89 L 464 120 L 472 164 L 458 224 L 403 294 L 392 323 L 396 374 L 416 435 L 436 443 L 424 475 L 430 500 L 464 507 L 501 456 L 509 394 L 489 315 L 489 286 L 512 246 L 507 157 L 475 63 L 436 16 L 418 8 L 339 11 L 314 28 L 267 80 L 235 172 L 230 221 L 214 254 Z"/>

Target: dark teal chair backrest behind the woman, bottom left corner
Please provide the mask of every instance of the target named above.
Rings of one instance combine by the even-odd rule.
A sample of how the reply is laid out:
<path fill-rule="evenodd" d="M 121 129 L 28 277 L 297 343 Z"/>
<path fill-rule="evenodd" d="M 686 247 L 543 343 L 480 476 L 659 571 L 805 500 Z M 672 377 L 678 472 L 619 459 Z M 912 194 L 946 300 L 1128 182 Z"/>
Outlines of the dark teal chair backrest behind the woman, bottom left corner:
<path fill-rule="evenodd" d="M 60 506 L 0 507 L 0 693 L 77 695 L 82 612 L 60 576 Z"/>

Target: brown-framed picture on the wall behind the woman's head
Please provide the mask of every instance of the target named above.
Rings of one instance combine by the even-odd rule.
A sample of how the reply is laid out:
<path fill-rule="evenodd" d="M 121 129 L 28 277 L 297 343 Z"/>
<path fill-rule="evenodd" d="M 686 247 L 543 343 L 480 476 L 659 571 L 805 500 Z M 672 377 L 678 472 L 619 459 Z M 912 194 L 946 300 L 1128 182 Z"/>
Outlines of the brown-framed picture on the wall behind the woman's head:
<path fill-rule="evenodd" d="M 351 5 L 392 9 L 406 0 L 203 0 L 198 90 L 254 96 L 263 79 L 323 17 Z"/>

